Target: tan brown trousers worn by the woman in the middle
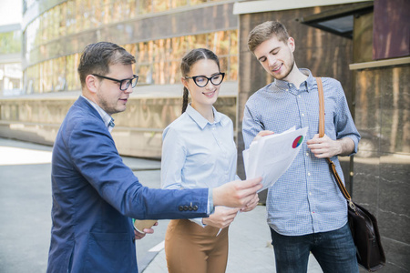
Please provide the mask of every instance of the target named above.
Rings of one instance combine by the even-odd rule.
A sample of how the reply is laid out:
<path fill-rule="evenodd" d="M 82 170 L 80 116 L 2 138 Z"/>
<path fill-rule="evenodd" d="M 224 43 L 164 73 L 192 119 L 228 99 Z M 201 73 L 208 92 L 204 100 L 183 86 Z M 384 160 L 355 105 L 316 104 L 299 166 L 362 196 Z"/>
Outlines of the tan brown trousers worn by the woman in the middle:
<path fill-rule="evenodd" d="M 171 220 L 165 235 L 169 273 L 224 273 L 228 228 L 200 227 L 188 219 Z"/>

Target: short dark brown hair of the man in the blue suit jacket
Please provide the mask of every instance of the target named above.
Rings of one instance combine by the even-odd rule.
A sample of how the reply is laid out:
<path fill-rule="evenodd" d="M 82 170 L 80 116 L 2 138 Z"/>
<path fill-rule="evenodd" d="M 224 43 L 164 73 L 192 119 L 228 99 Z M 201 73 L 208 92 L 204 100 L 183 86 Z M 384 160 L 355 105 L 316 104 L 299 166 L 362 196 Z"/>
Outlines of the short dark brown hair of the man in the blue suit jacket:
<path fill-rule="evenodd" d="M 87 45 L 77 68 L 81 86 L 86 85 L 86 77 L 90 74 L 106 76 L 109 73 L 109 66 L 117 64 L 127 66 L 135 62 L 135 57 L 119 45 L 109 42 Z"/>

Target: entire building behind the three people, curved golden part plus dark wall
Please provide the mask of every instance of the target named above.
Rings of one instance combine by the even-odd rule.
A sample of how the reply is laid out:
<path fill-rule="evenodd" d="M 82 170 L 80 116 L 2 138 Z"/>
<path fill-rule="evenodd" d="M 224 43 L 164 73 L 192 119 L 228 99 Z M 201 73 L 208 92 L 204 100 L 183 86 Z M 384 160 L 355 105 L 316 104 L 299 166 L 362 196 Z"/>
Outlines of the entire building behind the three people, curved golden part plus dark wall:
<path fill-rule="evenodd" d="M 139 76 L 127 111 L 114 116 L 118 150 L 125 156 L 159 158 L 162 130 L 180 115 L 180 58 L 202 46 L 220 56 L 227 73 L 216 107 L 234 122 L 238 175 L 244 178 L 243 108 L 253 92 L 272 82 L 249 52 L 246 38 L 255 25 L 279 20 L 296 41 L 298 66 L 342 83 L 363 136 L 359 155 L 341 158 L 347 188 L 378 218 L 387 258 L 380 272 L 408 272 L 409 3 L 25 0 L 22 94 L 1 95 L 0 136 L 52 145 L 81 94 L 81 51 L 90 43 L 109 41 L 136 56 Z"/>

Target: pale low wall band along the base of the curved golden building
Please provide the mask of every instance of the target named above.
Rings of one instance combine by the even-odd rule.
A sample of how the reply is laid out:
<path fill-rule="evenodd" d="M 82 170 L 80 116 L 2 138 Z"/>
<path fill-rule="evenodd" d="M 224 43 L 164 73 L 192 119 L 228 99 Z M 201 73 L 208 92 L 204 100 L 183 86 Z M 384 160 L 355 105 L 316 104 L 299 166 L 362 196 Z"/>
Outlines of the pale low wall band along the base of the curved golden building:
<path fill-rule="evenodd" d="M 236 92 L 237 82 L 223 83 L 215 104 L 217 110 L 231 117 L 235 130 Z M 52 146 L 60 124 L 79 95 L 62 92 L 0 99 L 0 137 Z M 182 86 L 137 87 L 127 110 L 113 116 L 116 127 L 112 136 L 118 152 L 159 159 L 162 130 L 180 116 L 181 102 Z"/>

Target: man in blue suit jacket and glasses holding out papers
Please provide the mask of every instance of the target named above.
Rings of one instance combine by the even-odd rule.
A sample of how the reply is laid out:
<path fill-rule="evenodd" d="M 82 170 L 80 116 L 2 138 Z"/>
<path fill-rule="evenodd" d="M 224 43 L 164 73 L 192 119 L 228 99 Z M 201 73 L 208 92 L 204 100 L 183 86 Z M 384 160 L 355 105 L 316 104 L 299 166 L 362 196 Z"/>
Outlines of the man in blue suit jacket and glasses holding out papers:
<path fill-rule="evenodd" d="M 254 202 L 261 179 L 208 189 L 143 187 L 118 155 L 112 114 L 126 109 L 137 84 L 134 56 L 115 44 L 87 45 L 78 74 L 80 96 L 53 148 L 53 208 L 47 272 L 138 272 L 131 217 L 207 217 L 214 206 Z M 151 228 L 144 231 L 152 233 Z"/>

